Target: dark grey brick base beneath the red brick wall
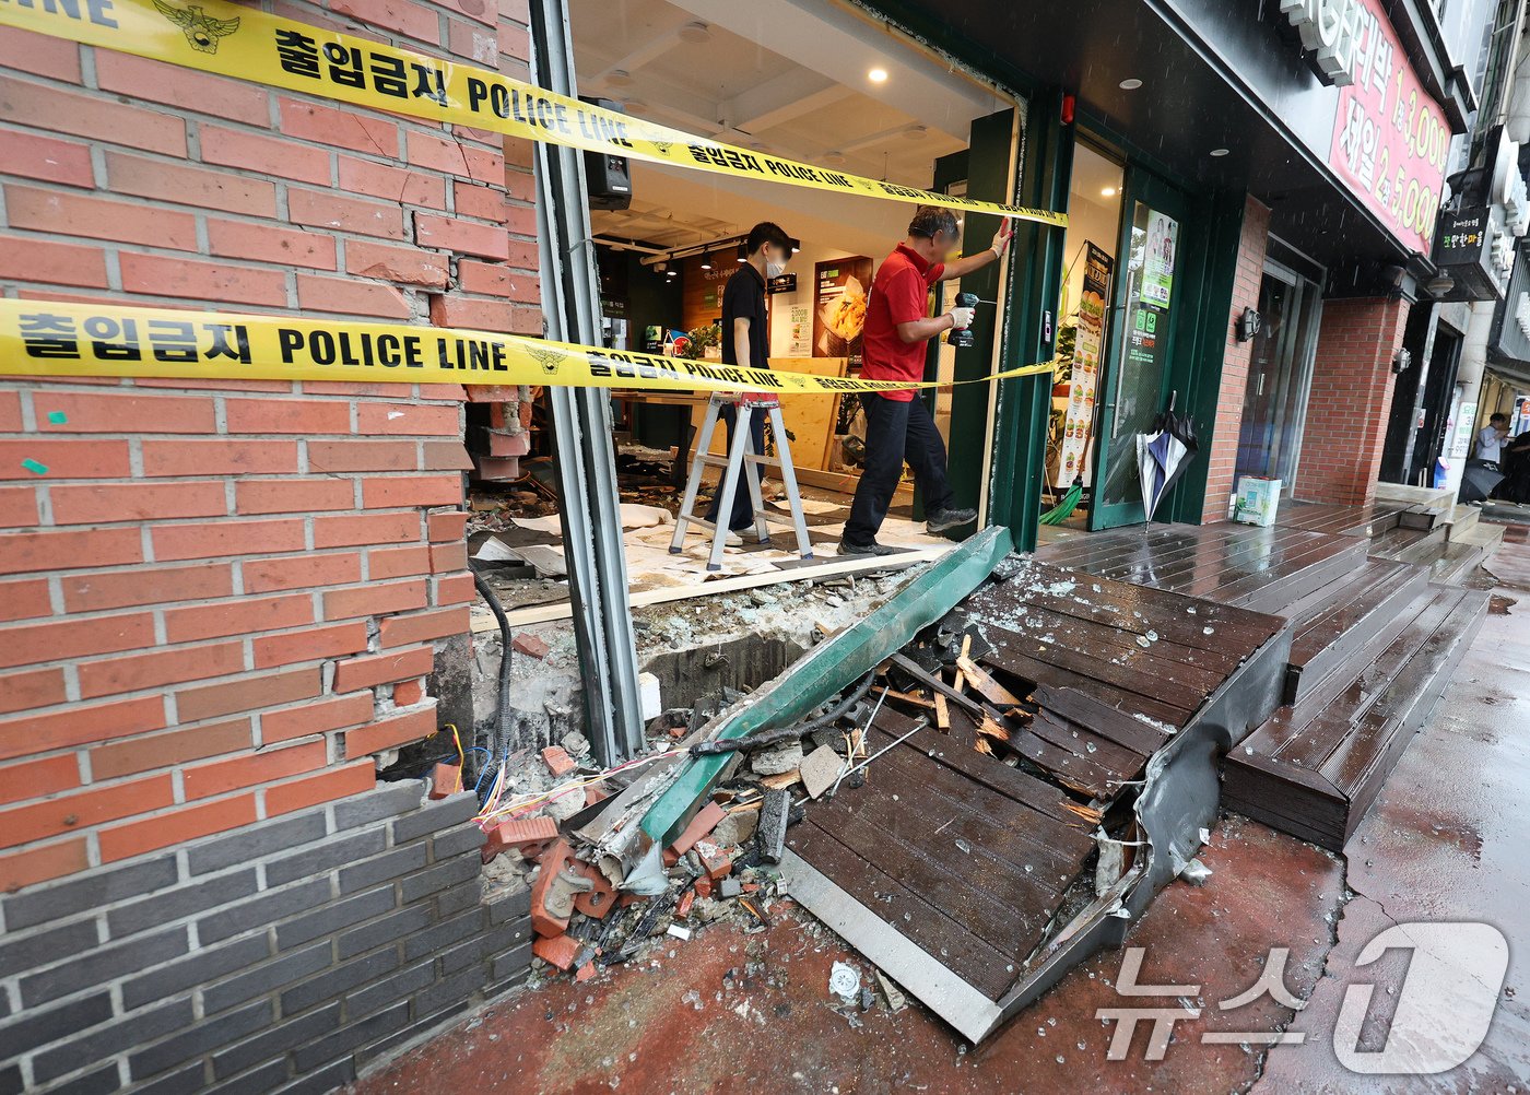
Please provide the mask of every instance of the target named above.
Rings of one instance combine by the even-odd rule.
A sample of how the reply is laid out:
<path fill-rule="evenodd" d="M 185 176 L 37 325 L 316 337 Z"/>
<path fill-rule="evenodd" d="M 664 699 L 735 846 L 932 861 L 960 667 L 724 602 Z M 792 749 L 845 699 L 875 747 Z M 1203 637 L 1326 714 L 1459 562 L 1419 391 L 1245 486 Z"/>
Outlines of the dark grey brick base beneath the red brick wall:
<path fill-rule="evenodd" d="M 393 783 L 0 898 L 0 1092 L 323 1092 L 525 977 L 471 794 Z"/>

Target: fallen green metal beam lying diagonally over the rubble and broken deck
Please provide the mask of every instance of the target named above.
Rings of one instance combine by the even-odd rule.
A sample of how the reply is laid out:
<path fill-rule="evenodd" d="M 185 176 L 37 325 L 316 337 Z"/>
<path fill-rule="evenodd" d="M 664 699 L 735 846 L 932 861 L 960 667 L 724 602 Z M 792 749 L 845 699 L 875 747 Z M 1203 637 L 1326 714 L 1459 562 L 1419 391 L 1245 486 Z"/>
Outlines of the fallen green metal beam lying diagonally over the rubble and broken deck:
<path fill-rule="evenodd" d="M 829 696 L 851 687 L 920 630 L 950 612 L 1014 549 L 1008 529 L 987 529 L 952 551 L 883 601 L 864 619 L 803 655 L 762 685 L 718 737 L 744 737 L 789 726 Z M 679 777 L 643 815 L 643 832 L 661 847 L 681 833 L 730 757 L 690 757 Z"/>

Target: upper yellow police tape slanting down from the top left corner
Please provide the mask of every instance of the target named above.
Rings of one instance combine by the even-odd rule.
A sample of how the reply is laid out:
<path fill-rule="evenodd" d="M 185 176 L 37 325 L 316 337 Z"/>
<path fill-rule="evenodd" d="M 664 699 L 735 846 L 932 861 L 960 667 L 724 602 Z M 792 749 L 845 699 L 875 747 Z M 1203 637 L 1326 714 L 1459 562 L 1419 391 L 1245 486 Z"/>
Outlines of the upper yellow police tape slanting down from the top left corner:
<path fill-rule="evenodd" d="M 811 190 L 991 213 L 1068 216 L 900 187 L 747 151 L 542 90 L 488 69 L 268 15 L 223 0 L 0 0 L 0 26 L 138 54 L 431 122 Z"/>

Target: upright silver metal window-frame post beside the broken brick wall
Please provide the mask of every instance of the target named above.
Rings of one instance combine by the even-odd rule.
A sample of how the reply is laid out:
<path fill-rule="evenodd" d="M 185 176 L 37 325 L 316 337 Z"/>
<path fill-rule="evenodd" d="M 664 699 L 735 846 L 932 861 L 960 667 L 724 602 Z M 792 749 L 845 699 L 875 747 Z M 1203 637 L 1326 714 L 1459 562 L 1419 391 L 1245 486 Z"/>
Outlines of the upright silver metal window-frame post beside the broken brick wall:
<path fill-rule="evenodd" d="M 560 95 L 577 95 L 565 0 L 532 0 L 529 21 L 532 81 Z M 600 295 L 583 153 L 537 142 L 536 168 L 548 336 L 595 346 Z M 610 399 L 600 388 L 552 387 L 549 395 L 586 725 L 595 755 L 612 765 L 643 748 L 643 717 Z"/>

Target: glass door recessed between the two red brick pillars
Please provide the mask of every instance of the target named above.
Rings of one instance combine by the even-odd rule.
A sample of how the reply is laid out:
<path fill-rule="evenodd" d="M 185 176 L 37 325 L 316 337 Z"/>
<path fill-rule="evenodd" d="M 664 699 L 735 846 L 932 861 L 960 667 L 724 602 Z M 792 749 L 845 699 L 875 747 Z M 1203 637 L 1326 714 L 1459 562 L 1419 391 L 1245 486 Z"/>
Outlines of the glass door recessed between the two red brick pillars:
<path fill-rule="evenodd" d="M 1279 479 L 1290 494 L 1302 448 L 1307 390 L 1317 352 L 1322 297 L 1296 272 L 1267 263 L 1259 283 L 1259 332 L 1238 431 L 1238 476 Z"/>

